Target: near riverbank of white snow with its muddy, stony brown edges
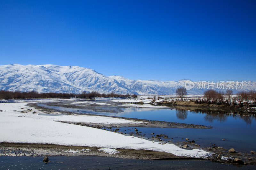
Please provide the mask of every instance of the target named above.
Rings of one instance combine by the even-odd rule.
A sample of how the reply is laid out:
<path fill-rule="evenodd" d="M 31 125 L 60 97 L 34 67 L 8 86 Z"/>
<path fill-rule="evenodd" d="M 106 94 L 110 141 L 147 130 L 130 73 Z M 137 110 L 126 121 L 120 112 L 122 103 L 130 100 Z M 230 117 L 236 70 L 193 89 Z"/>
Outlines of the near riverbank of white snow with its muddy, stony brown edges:
<path fill-rule="evenodd" d="M 2 110 L 0 112 L 0 126 L 2 129 L 0 132 L 2 137 L 0 139 L 0 146 L 2 149 L 4 148 L 4 151 L 1 152 L 3 155 L 16 153 L 16 156 L 22 156 L 24 151 L 35 151 L 33 148 L 39 146 L 40 149 L 36 153 L 49 153 L 50 155 L 54 154 L 48 152 L 47 147 L 60 149 L 60 151 L 56 152 L 56 155 L 87 155 L 90 153 L 99 156 L 103 154 L 102 156 L 111 155 L 118 158 L 119 156 L 120 158 L 136 158 L 136 155 L 139 154 L 141 155 L 140 159 L 207 159 L 213 162 L 239 163 L 243 165 L 255 164 L 254 155 L 240 152 L 229 153 L 227 149 L 221 147 L 212 146 L 210 149 L 203 149 L 199 145 L 196 145 L 195 142 L 193 143 L 193 141 L 191 142 L 189 140 L 179 144 L 161 142 L 160 140 L 157 142 L 157 135 L 152 140 L 146 140 L 143 137 L 139 138 L 137 134 L 136 136 L 135 132 L 137 131 L 135 129 L 133 134 L 127 135 L 118 132 L 116 129 L 113 129 L 116 133 L 103 129 L 104 126 L 108 128 L 117 128 L 118 126 L 153 127 L 153 125 L 164 127 L 166 126 L 165 123 L 170 122 L 155 121 L 150 123 L 150 120 L 145 119 L 91 114 L 65 114 L 63 111 L 54 109 L 32 107 L 36 104 L 29 104 L 30 106 L 28 106 L 28 103 L 24 102 L 2 104 L 0 105 Z M 102 108 L 104 107 L 104 105 L 101 106 Z M 88 125 L 102 126 L 96 129 Z M 186 126 L 187 128 L 191 128 L 189 127 L 191 124 L 186 124 Z M 170 124 L 167 127 L 170 128 Z M 207 127 L 205 126 L 203 128 Z M 159 134 L 158 138 L 161 135 Z M 52 146 L 48 146 L 48 144 Z M 25 147 L 20 149 L 22 146 Z M 67 146 L 71 148 L 67 148 Z M 16 152 L 19 149 L 23 152 Z M 106 152 L 101 153 L 102 151 L 111 150 L 113 151 L 111 154 Z M 29 152 L 29 155 L 33 156 L 31 154 L 32 152 Z M 219 154 L 220 156 L 218 156 Z M 234 162 L 235 158 L 241 159 L 241 161 Z M 248 160 L 250 158 L 252 160 Z"/>

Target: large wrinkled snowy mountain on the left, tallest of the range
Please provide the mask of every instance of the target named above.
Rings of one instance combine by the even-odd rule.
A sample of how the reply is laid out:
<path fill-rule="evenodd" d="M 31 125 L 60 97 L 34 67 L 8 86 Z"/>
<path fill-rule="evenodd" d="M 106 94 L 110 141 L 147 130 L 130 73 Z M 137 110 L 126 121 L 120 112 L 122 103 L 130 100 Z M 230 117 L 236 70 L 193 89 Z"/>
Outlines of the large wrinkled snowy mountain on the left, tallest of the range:
<path fill-rule="evenodd" d="M 0 90 L 79 93 L 132 93 L 116 80 L 92 69 L 57 65 L 0 66 Z"/>

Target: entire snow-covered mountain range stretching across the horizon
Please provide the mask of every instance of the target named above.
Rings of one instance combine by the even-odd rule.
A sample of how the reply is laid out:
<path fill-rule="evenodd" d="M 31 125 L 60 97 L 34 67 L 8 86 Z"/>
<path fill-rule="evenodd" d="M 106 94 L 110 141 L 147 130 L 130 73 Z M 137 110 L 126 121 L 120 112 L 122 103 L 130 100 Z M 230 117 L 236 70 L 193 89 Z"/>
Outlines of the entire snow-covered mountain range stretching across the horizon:
<path fill-rule="evenodd" d="M 58 65 L 20 65 L 0 66 L 0 90 L 81 93 L 83 91 L 118 94 L 175 94 L 176 88 L 185 86 L 187 80 L 158 81 L 131 80 L 122 76 L 106 77 L 95 70 L 83 67 Z M 203 94 L 204 90 L 226 91 L 228 87 L 234 93 L 256 90 L 255 81 L 241 82 L 190 82 L 194 88 L 188 94 Z M 209 86 L 208 86 L 209 85 Z M 240 85 L 240 87 L 239 87 Z M 204 88 L 203 88 L 204 87 Z"/>

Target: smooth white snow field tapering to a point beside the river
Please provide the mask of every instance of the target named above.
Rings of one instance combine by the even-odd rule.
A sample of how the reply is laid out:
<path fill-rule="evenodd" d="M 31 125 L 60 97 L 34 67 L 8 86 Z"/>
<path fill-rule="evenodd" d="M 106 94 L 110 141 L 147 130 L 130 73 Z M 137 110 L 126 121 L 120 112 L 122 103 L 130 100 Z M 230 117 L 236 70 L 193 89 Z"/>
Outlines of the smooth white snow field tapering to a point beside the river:
<path fill-rule="evenodd" d="M 162 144 L 107 130 L 54 122 L 54 120 L 98 123 L 141 122 L 102 116 L 38 115 L 43 114 L 43 112 L 26 105 L 27 102 L 0 103 L 0 142 L 60 144 L 112 149 L 144 149 L 195 158 L 205 158 L 212 155 L 212 153 L 204 150 L 187 150 L 174 144 Z M 27 113 L 20 113 L 20 111 Z M 34 111 L 36 111 L 36 114 L 33 114 Z"/>

